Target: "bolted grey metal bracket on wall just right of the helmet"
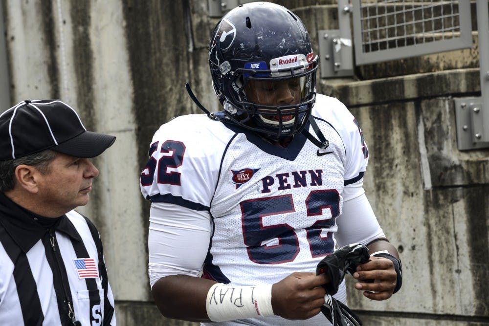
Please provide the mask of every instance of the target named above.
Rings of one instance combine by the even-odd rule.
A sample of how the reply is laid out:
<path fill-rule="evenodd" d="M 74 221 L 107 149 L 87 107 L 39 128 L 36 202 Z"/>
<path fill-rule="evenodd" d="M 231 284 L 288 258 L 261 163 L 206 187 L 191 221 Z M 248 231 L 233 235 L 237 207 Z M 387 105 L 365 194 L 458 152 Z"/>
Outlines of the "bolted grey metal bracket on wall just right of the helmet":
<path fill-rule="evenodd" d="M 342 38 L 339 29 L 317 32 L 321 78 L 353 76 L 352 40 Z"/>

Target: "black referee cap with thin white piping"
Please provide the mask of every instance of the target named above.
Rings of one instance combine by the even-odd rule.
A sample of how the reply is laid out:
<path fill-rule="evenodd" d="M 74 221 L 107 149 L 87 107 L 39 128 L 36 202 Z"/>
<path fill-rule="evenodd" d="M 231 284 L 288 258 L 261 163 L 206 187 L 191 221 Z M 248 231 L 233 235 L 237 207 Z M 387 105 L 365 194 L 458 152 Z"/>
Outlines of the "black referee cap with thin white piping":
<path fill-rule="evenodd" d="M 75 157 L 95 157 L 115 136 L 87 131 L 74 109 L 59 100 L 25 100 L 0 115 L 0 160 L 47 149 Z"/>

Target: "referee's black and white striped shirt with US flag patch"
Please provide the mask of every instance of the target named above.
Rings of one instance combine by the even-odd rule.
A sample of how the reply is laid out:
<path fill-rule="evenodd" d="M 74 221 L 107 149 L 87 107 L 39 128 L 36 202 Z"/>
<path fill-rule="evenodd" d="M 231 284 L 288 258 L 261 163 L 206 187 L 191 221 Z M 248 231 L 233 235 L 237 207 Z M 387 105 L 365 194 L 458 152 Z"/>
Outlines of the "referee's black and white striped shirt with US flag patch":
<path fill-rule="evenodd" d="M 33 217 L 0 193 L 0 325 L 114 326 L 95 226 L 75 211 L 49 230 Z"/>

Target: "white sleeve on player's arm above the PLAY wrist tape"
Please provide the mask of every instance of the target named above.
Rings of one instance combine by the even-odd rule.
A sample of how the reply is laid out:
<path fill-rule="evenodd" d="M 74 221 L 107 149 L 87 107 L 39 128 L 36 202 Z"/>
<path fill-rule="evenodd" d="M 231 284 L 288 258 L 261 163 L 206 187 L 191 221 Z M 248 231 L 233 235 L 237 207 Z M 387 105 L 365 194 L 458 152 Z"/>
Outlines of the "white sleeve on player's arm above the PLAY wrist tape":
<path fill-rule="evenodd" d="M 211 236 L 208 211 L 152 203 L 148 235 L 151 287 L 169 275 L 199 276 Z"/>

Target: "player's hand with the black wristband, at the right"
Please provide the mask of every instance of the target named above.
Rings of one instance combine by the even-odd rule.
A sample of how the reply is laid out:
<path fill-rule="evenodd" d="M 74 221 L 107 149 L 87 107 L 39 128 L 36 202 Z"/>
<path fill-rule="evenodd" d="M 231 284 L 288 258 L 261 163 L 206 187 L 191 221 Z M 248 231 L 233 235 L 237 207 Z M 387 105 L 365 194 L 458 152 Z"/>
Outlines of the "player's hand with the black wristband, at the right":
<path fill-rule="evenodd" d="M 389 299 L 397 283 L 394 264 L 383 257 L 370 257 L 370 261 L 358 265 L 353 277 L 359 281 L 355 288 L 372 300 Z"/>

